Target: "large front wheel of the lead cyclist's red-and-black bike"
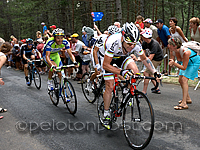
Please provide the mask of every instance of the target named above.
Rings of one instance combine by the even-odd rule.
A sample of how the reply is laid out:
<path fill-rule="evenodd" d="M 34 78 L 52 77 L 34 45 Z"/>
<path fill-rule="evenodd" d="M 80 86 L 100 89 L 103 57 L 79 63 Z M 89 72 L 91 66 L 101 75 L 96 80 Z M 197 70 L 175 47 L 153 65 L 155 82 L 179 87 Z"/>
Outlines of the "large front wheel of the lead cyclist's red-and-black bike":
<path fill-rule="evenodd" d="M 138 98 L 138 95 L 142 98 Z M 128 101 L 123 111 L 124 135 L 133 149 L 144 149 L 153 135 L 153 107 L 147 96 L 140 91 L 125 98 Z"/>

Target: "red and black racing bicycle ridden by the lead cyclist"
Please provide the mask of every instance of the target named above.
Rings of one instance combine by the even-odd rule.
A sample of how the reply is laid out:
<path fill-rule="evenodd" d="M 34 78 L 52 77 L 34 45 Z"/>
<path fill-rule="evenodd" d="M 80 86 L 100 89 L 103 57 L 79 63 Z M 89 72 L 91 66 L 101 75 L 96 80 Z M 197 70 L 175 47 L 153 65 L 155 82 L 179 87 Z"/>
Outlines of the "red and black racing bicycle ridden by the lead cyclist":
<path fill-rule="evenodd" d="M 117 121 L 118 117 L 123 116 L 122 126 L 124 135 L 128 144 L 133 149 L 144 149 L 149 144 L 154 130 L 154 111 L 151 102 L 144 93 L 136 89 L 142 79 L 151 79 L 156 81 L 154 77 L 145 77 L 140 75 L 133 75 L 129 80 L 120 81 L 118 80 L 117 75 L 115 75 L 115 84 L 110 103 L 110 128 L 112 128 L 112 124 Z M 119 94 L 117 85 L 120 83 L 125 83 L 124 87 L 130 85 L 128 93 L 122 97 L 122 100 L 119 100 L 118 98 Z M 157 87 L 158 82 L 156 81 L 155 88 Z M 142 98 L 138 98 L 138 95 L 141 95 Z M 100 123 L 103 125 L 103 101 L 97 102 L 97 111 Z"/>

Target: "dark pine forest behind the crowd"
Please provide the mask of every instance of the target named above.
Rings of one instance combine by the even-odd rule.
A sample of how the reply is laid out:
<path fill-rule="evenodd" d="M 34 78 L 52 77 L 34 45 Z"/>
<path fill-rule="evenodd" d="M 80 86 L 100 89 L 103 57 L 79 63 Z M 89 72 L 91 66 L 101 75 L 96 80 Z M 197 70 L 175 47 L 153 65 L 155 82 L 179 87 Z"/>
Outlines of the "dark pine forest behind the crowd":
<path fill-rule="evenodd" d="M 36 31 L 42 31 L 41 22 L 47 28 L 55 24 L 65 33 L 81 35 L 83 26 L 93 27 L 91 12 L 103 12 L 102 21 L 95 22 L 101 31 L 115 21 L 135 22 L 138 15 L 153 22 L 163 19 L 169 27 L 169 19 L 176 17 L 185 36 L 190 39 L 189 19 L 200 17 L 200 0 L 1 0 L 0 37 L 6 41 L 10 35 L 16 38 L 36 39 Z"/>

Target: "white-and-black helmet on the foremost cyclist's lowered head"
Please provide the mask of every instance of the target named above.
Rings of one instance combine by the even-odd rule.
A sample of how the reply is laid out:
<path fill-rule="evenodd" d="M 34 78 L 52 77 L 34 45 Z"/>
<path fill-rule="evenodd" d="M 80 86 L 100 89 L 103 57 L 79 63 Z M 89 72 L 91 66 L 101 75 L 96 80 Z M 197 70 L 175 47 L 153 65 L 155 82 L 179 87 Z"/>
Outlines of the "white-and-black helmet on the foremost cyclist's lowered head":
<path fill-rule="evenodd" d="M 126 43 L 136 43 L 139 40 L 140 32 L 134 23 L 126 22 L 122 27 L 122 35 Z"/>

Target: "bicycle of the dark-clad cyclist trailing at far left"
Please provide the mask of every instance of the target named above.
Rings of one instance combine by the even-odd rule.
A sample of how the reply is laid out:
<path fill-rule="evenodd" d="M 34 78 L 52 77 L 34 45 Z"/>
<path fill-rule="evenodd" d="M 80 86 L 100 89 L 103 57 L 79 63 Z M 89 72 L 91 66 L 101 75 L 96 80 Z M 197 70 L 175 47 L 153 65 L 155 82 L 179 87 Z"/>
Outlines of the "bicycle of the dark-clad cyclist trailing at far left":
<path fill-rule="evenodd" d="M 28 80 L 30 84 L 27 84 L 28 86 L 31 85 L 32 80 L 34 80 L 36 88 L 39 90 L 41 88 L 41 77 L 39 74 L 38 69 L 35 67 L 36 61 L 41 61 L 41 60 L 31 60 L 28 62 Z"/>

